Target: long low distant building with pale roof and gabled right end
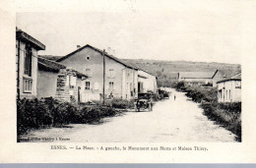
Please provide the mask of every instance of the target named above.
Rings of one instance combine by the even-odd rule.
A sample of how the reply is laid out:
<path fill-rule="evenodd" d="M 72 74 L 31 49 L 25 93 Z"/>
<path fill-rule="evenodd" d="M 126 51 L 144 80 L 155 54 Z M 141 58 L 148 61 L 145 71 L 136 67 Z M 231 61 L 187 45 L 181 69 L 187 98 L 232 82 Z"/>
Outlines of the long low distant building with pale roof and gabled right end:
<path fill-rule="evenodd" d="M 179 72 L 178 82 L 187 85 L 212 85 L 217 86 L 217 82 L 224 80 L 224 74 L 216 70 L 215 72 Z"/>

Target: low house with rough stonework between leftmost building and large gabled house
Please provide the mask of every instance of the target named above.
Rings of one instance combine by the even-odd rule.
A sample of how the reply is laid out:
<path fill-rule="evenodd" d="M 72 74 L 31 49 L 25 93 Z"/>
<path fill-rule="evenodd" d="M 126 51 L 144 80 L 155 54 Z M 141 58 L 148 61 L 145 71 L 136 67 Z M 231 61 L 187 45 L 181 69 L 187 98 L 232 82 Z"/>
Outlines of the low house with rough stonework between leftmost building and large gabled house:
<path fill-rule="evenodd" d="M 37 98 L 81 102 L 83 81 L 88 77 L 64 65 L 38 57 Z"/>

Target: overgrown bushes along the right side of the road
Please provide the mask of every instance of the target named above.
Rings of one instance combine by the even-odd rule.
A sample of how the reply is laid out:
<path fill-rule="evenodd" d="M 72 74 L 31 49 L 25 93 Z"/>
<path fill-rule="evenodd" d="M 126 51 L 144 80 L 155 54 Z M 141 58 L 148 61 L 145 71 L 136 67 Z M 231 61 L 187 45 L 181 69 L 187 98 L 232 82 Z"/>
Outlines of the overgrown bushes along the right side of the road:
<path fill-rule="evenodd" d="M 183 82 L 176 84 L 176 89 L 185 91 L 186 96 L 201 103 L 204 114 L 211 120 L 221 124 L 236 135 L 241 141 L 241 102 L 218 102 L 218 92 L 215 87 L 185 86 Z"/>

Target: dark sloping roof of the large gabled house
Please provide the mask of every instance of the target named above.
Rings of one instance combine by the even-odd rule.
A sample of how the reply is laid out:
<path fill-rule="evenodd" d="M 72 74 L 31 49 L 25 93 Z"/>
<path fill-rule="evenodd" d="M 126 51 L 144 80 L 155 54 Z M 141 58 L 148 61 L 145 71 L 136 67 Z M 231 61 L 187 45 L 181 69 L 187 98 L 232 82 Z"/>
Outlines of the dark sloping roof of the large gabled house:
<path fill-rule="evenodd" d="M 83 50 L 83 49 L 86 48 L 86 47 L 90 47 L 90 48 L 96 50 L 96 51 L 99 52 L 99 53 L 102 53 L 102 52 L 103 52 L 102 50 L 100 50 L 100 49 L 98 49 L 98 48 L 96 48 L 96 47 L 93 47 L 93 46 L 87 44 L 87 45 L 85 45 L 85 46 L 83 46 L 83 47 L 81 47 L 81 48 L 79 48 L 79 49 L 73 51 L 72 53 L 70 53 L 70 54 L 68 54 L 68 55 L 66 55 L 66 56 L 64 56 L 64 57 L 62 57 L 62 58 L 60 58 L 60 59 L 58 59 L 58 60 L 56 60 L 56 61 L 57 61 L 57 62 L 60 62 L 60 61 L 62 61 L 62 60 L 64 60 L 64 59 L 66 59 L 66 58 L 72 56 L 73 54 L 75 54 L 75 53 L 77 53 L 77 52 Z M 128 68 L 132 68 L 132 69 L 138 70 L 138 68 L 134 67 L 133 65 L 131 65 L 131 64 L 129 64 L 129 63 L 126 63 L 126 62 L 124 62 L 124 61 L 122 61 L 122 60 L 120 60 L 120 59 L 118 59 L 118 58 L 116 58 L 116 57 L 114 57 L 114 56 L 112 56 L 112 55 L 108 55 L 108 54 L 106 53 L 105 56 L 107 56 L 108 58 L 111 58 L 111 59 L 115 60 L 116 62 L 118 62 L 118 63 L 120 63 L 120 64 L 122 64 L 122 65 L 124 65 L 124 66 L 126 66 L 126 67 L 128 67 Z"/>

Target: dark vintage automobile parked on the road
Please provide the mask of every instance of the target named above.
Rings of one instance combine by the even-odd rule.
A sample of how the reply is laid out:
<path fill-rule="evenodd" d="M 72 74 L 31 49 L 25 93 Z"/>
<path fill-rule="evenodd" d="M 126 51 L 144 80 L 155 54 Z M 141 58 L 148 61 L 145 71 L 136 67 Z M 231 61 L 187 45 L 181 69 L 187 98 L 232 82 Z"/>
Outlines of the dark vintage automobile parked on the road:
<path fill-rule="evenodd" d="M 153 94 L 150 92 L 138 93 L 138 98 L 135 98 L 134 107 L 135 110 L 140 112 L 141 109 L 153 110 Z"/>

